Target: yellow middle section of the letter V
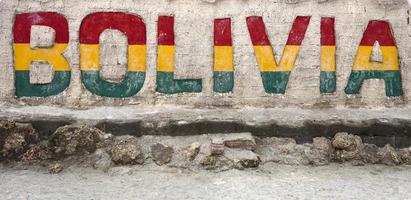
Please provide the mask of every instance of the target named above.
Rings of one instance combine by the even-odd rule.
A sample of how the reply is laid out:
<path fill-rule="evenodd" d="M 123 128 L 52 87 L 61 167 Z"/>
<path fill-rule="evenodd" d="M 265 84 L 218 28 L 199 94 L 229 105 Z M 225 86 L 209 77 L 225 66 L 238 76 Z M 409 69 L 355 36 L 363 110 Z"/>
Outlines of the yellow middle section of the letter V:
<path fill-rule="evenodd" d="M 299 45 L 286 45 L 283 55 L 281 56 L 280 64 L 277 65 L 271 46 L 254 46 L 254 52 L 261 72 L 291 71 L 295 65 L 299 51 Z"/>

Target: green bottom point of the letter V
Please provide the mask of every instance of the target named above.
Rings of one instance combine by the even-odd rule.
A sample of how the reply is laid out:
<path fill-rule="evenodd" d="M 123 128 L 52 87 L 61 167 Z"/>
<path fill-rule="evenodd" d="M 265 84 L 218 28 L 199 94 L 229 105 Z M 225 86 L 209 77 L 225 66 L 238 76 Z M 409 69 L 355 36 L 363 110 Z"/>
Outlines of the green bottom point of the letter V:
<path fill-rule="evenodd" d="M 291 72 L 261 72 L 266 93 L 285 94 Z"/>

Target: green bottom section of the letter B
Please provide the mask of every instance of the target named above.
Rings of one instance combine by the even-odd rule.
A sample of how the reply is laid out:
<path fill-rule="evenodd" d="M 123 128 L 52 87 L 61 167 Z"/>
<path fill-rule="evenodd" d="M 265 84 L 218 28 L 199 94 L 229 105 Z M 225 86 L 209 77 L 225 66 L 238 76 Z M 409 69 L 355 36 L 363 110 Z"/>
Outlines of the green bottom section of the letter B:
<path fill-rule="evenodd" d="M 31 84 L 30 71 L 15 71 L 17 97 L 48 97 L 63 92 L 70 85 L 70 71 L 56 71 L 51 83 Z"/>

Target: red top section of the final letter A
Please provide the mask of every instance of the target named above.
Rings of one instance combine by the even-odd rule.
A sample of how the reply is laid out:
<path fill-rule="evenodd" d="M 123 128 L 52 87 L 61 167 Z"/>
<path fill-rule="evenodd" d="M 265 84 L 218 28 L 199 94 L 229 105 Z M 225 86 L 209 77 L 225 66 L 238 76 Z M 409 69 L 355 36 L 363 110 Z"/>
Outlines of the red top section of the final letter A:
<path fill-rule="evenodd" d="M 371 20 L 368 23 L 360 45 L 374 46 L 375 41 L 378 41 L 380 46 L 396 46 L 389 22 Z"/>

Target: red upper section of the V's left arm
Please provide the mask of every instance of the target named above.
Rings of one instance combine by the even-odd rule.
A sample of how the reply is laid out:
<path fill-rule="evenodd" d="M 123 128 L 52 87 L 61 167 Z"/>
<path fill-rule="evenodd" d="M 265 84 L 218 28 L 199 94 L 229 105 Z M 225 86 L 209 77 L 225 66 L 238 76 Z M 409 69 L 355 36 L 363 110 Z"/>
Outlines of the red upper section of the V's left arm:
<path fill-rule="evenodd" d="M 253 45 L 271 45 L 265 31 L 263 18 L 260 16 L 247 17 L 247 27 Z"/>

